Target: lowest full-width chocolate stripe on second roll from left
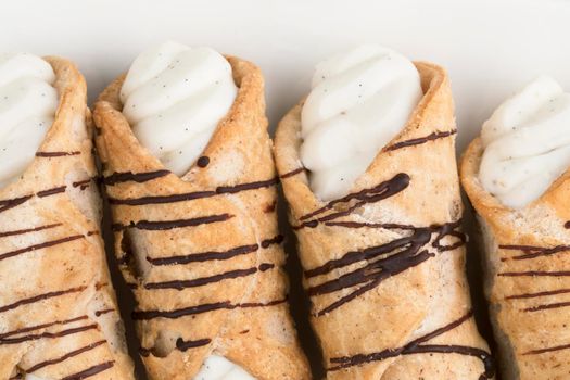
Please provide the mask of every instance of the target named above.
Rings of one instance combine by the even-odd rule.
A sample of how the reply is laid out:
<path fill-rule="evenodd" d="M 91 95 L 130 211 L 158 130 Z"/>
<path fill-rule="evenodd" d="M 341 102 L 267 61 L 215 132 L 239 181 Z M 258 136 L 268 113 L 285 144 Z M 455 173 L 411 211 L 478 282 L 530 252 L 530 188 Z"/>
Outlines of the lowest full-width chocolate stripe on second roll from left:
<path fill-rule="evenodd" d="M 287 299 L 270 301 L 268 303 L 261 302 L 249 302 L 241 304 L 231 304 L 229 301 L 215 302 L 210 304 L 201 304 L 197 306 L 189 306 L 177 308 L 174 311 L 138 311 L 132 313 L 132 319 L 135 320 L 149 320 L 154 318 L 168 318 L 177 319 L 190 315 L 197 315 L 202 313 L 208 313 L 219 309 L 235 309 L 235 308 L 249 308 L 249 307 L 265 307 L 275 306 L 287 302 Z"/>

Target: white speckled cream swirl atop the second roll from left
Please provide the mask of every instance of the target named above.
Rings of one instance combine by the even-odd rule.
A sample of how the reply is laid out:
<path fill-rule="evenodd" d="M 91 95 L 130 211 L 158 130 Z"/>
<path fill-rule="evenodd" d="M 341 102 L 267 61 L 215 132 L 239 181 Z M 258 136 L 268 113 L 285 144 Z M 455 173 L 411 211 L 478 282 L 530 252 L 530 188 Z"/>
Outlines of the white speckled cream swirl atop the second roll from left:
<path fill-rule="evenodd" d="M 121 101 L 140 143 L 182 176 L 206 147 L 237 93 L 231 66 L 221 54 L 168 41 L 132 62 Z"/>

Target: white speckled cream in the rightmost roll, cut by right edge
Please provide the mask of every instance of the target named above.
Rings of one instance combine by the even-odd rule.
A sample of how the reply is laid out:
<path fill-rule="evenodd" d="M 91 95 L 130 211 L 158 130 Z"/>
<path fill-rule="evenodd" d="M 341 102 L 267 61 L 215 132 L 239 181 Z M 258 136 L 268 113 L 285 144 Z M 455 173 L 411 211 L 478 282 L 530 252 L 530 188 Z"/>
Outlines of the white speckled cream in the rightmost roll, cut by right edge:
<path fill-rule="evenodd" d="M 481 142 L 483 188 L 524 207 L 570 166 L 570 93 L 549 77 L 533 80 L 483 124 Z"/>

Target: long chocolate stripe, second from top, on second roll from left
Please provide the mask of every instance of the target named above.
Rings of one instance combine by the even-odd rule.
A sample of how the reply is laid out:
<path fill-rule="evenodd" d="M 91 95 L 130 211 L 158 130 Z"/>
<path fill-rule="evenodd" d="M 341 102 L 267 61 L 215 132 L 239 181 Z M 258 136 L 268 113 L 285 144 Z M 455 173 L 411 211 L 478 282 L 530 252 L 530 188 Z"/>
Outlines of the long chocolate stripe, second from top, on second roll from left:
<path fill-rule="evenodd" d="M 180 193 L 180 194 L 150 195 L 150 197 L 128 198 L 128 199 L 110 198 L 109 203 L 116 204 L 116 205 L 141 206 L 141 205 L 147 205 L 147 204 L 186 202 L 186 201 L 193 201 L 197 199 L 215 197 L 219 194 L 235 194 L 241 191 L 267 188 L 267 187 L 275 186 L 278 182 L 279 182 L 278 178 L 273 178 L 268 180 L 241 183 L 241 185 L 236 185 L 236 186 L 220 186 L 216 188 L 216 190 L 210 190 L 210 191 L 193 191 L 193 192 L 186 192 L 186 193 Z"/>

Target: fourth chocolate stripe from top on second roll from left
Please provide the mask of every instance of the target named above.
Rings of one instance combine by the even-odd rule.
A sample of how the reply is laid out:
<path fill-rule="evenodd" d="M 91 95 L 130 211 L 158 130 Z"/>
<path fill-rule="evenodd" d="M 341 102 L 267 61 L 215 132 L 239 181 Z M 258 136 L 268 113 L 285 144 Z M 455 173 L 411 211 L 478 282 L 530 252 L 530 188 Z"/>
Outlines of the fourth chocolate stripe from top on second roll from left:
<path fill-rule="evenodd" d="M 261 246 L 266 249 L 273 244 L 280 244 L 283 241 L 283 237 L 278 235 L 270 239 L 262 240 Z M 188 255 L 177 255 L 168 257 L 147 257 L 147 261 L 152 265 L 183 265 L 189 263 L 202 263 L 216 259 L 230 259 L 235 256 L 244 255 L 256 252 L 259 249 L 258 244 L 240 245 L 227 251 L 207 251 L 200 253 L 191 253 Z"/>

